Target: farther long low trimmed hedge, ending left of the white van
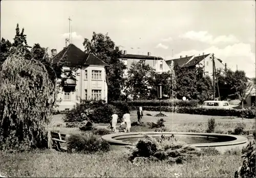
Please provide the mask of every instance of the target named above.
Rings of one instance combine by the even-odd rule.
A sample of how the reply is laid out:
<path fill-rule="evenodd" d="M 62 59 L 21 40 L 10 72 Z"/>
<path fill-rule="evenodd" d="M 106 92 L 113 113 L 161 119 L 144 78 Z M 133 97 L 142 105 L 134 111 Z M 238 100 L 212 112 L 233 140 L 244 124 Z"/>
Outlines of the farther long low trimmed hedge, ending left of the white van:
<path fill-rule="evenodd" d="M 159 100 L 133 100 L 133 101 L 112 101 L 110 104 L 114 106 L 120 106 L 120 105 L 128 105 L 130 107 L 145 107 L 145 106 L 151 106 L 151 107 L 158 107 L 159 106 Z M 161 106 L 172 106 L 173 101 L 172 100 L 161 100 Z M 197 100 L 174 100 L 174 107 L 197 107 L 198 102 Z M 137 110 L 136 109 L 136 110 Z"/>

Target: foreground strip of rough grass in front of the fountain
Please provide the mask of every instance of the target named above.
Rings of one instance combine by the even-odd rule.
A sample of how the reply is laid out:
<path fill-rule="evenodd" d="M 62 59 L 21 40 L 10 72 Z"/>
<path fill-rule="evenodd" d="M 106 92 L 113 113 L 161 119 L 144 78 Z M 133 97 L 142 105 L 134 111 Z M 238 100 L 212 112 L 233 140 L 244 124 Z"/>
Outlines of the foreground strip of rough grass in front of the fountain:
<path fill-rule="evenodd" d="M 84 155 L 36 150 L 0 152 L 1 174 L 11 177 L 233 177 L 240 155 L 198 157 L 182 165 L 149 162 L 133 165 L 120 151 Z"/>

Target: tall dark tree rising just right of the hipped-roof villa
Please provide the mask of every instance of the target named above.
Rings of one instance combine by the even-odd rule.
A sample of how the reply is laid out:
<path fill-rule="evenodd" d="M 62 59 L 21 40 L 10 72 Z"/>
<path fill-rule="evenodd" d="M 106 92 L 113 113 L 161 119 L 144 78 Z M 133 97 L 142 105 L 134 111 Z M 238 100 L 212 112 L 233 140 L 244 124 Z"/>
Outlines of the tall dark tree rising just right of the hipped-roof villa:
<path fill-rule="evenodd" d="M 123 73 L 126 69 L 122 58 L 122 53 L 114 41 L 108 34 L 96 34 L 93 32 L 91 41 L 84 39 L 83 46 L 86 53 L 92 53 L 99 59 L 110 65 L 106 68 L 106 75 L 108 76 L 108 100 L 119 100 L 121 98 L 121 84 L 124 83 Z"/>

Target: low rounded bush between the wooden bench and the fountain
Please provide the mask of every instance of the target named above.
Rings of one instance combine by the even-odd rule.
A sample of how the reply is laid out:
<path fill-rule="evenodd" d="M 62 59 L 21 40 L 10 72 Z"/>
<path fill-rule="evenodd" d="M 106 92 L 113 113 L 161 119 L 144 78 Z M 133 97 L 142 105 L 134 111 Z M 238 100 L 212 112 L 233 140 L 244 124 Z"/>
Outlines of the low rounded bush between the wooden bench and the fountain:
<path fill-rule="evenodd" d="M 99 136 L 86 133 L 83 135 L 70 135 L 67 139 L 67 148 L 69 152 L 90 154 L 97 151 L 109 151 L 110 145 Z"/>

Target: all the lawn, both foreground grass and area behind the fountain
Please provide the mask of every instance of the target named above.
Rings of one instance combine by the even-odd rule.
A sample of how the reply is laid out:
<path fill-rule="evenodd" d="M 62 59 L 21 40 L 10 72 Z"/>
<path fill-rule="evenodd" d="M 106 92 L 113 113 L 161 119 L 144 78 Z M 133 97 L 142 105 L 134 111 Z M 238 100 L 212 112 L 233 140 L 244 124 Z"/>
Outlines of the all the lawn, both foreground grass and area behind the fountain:
<path fill-rule="evenodd" d="M 158 112 L 144 111 L 143 122 L 156 122 Z M 187 132 L 207 129 L 207 119 L 214 117 L 216 130 L 234 129 L 241 118 L 202 116 L 189 114 L 165 113 L 164 123 L 167 129 Z M 147 116 L 150 114 L 152 116 Z M 81 133 L 78 128 L 65 128 L 63 115 L 54 115 L 49 130 L 61 133 Z M 136 111 L 131 112 L 131 120 L 137 121 Z M 255 119 L 244 119 L 246 130 L 255 130 Z M 174 123 L 174 126 L 172 126 Z M 106 124 L 96 124 L 105 126 Z M 148 128 L 134 126 L 132 132 L 148 131 Z M 182 165 L 165 162 L 148 162 L 134 165 L 127 159 L 124 152 L 111 150 L 93 155 L 68 154 L 55 150 L 34 150 L 31 152 L 1 152 L 0 174 L 11 177 L 233 177 L 234 171 L 241 165 L 241 154 L 225 153 L 197 157 L 192 162 Z"/>

